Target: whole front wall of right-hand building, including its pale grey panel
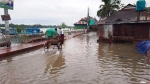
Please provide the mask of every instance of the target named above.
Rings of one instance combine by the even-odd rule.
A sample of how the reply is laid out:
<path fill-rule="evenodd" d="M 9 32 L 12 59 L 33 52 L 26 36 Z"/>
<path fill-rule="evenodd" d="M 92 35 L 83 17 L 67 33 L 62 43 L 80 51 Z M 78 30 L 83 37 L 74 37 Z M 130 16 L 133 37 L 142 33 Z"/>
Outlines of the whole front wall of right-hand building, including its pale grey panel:
<path fill-rule="evenodd" d="M 133 42 L 150 39 L 149 23 L 128 23 L 99 25 L 98 36 L 100 39 L 108 39 L 108 32 L 111 31 L 113 38 L 120 42 Z"/>

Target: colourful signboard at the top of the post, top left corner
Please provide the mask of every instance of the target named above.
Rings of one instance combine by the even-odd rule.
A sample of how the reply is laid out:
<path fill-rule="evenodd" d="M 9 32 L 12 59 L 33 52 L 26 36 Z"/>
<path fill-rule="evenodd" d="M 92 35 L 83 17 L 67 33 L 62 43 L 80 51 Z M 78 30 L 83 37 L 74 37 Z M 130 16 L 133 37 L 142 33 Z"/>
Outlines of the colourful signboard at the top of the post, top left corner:
<path fill-rule="evenodd" d="M 0 0 L 0 8 L 13 10 L 14 0 Z"/>

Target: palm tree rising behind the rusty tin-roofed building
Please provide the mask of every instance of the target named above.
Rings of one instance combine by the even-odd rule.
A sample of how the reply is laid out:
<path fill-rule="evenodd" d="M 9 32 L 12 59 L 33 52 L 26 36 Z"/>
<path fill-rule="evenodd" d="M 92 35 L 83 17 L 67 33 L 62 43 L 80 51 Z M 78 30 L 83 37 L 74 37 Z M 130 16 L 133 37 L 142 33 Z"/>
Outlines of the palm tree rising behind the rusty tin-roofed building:
<path fill-rule="evenodd" d="M 117 12 L 120 8 L 123 7 L 123 4 L 120 4 L 120 0 L 102 0 L 104 5 L 100 5 L 100 10 L 97 11 L 98 17 L 108 17 L 111 14 Z"/>

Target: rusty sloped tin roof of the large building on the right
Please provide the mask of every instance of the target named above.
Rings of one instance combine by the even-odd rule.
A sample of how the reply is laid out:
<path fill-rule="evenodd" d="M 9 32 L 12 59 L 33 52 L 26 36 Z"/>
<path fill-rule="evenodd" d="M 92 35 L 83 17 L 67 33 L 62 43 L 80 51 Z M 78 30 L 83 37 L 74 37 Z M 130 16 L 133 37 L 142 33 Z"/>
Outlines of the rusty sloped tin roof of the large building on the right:
<path fill-rule="evenodd" d="M 136 22 L 137 20 L 137 12 L 136 6 L 128 4 L 118 12 L 112 14 L 111 16 L 107 17 L 103 21 L 99 21 L 98 24 L 114 24 L 114 23 L 130 23 L 130 22 Z M 140 12 L 140 21 L 146 20 L 146 11 Z M 148 15 L 147 20 L 150 22 L 150 14 Z M 146 22 L 148 22 L 146 21 Z"/>

